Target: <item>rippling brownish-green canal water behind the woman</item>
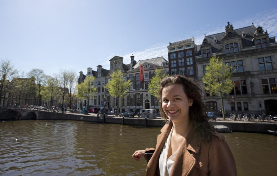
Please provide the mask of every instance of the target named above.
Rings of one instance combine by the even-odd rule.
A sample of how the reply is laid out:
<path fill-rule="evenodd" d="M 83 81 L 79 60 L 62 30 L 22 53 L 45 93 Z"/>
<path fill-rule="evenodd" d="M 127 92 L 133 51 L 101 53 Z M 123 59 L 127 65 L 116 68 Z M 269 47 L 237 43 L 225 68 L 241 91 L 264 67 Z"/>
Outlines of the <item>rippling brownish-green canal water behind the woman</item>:
<path fill-rule="evenodd" d="M 0 122 L 0 175 L 145 175 L 135 150 L 156 146 L 160 128 L 81 121 Z M 238 175 L 276 175 L 277 137 L 222 133 Z"/>

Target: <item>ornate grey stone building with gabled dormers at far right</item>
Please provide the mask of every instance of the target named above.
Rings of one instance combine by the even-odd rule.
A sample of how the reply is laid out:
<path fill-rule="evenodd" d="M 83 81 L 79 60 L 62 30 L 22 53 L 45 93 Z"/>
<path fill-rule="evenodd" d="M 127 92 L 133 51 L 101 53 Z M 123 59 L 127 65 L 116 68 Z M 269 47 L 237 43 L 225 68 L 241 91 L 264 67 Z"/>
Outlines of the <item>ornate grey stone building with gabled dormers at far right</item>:
<path fill-rule="evenodd" d="M 196 46 L 197 77 L 201 81 L 210 56 L 224 58 L 233 66 L 232 92 L 224 98 L 225 110 L 262 111 L 277 113 L 277 42 L 262 27 L 251 26 L 233 29 L 229 22 L 225 32 L 205 35 L 203 43 Z M 202 84 L 203 92 L 205 92 Z M 218 96 L 205 94 L 212 110 L 221 109 Z M 235 100 L 232 101 L 232 97 Z"/>

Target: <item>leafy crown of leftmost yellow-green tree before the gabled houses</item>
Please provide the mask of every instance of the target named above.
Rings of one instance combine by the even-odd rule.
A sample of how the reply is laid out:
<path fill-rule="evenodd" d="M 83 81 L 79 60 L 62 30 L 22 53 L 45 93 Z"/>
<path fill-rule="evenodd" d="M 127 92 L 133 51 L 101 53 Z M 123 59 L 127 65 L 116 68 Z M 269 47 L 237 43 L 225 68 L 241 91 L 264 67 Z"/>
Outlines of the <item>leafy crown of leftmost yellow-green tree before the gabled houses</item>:
<path fill-rule="evenodd" d="M 96 93 L 96 87 L 92 86 L 95 80 L 94 76 L 87 76 L 83 83 L 77 85 L 77 97 L 79 99 L 87 99 L 93 97 L 93 94 Z"/>

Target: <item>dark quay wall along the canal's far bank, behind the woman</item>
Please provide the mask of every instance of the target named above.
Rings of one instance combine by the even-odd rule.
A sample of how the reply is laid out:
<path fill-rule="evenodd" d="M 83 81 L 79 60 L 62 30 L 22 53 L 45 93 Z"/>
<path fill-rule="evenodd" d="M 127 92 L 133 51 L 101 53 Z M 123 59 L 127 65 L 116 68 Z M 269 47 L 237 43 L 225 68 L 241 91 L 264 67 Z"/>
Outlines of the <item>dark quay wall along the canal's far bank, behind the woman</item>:
<path fill-rule="evenodd" d="M 79 120 L 87 122 L 103 122 L 103 119 L 97 116 L 88 116 L 83 114 L 53 113 L 48 111 L 38 111 L 38 120 Z M 105 123 L 139 125 L 139 126 L 160 126 L 164 125 L 162 119 L 144 119 L 144 118 L 123 118 L 105 117 Z M 213 125 L 229 126 L 230 130 L 242 132 L 267 133 L 267 130 L 277 131 L 276 122 L 240 122 L 240 121 L 216 121 Z"/>

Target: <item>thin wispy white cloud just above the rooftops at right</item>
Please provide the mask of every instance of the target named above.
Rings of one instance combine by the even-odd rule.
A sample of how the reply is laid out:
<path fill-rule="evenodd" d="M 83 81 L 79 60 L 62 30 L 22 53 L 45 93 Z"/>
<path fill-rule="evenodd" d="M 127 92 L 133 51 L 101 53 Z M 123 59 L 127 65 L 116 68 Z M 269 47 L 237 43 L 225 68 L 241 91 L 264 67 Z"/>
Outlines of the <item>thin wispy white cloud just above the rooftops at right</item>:
<path fill-rule="evenodd" d="M 276 36 L 277 35 L 277 10 L 274 10 L 272 12 L 268 13 L 257 13 L 256 15 L 252 16 L 251 18 L 245 18 L 241 19 L 239 21 L 230 21 L 231 24 L 233 24 L 234 29 L 246 27 L 252 25 L 252 22 L 254 23 L 255 27 L 261 26 L 263 29 L 267 29 L 267 32 L 269 33 L 269 36 Z M 209 25 L 209 24 L 207 24 Z M 202 43 L 204 39 L 204 34 L 206 35 L 212 35 L 216 33 L 221 33 L 224 32 L 225 30 L 225 25 L 226 24 L 219 24 L 220 26 L 218 27 L 213 27 L 210 30 L 198 30 L 198 31 L 191 31 L 190 33 L 187 33 L 184 36 L 181 36 L 182 38 L 177 38 L 174 39 L 173 41 L 169 42 L 175 42 L 175 41 L 180 41 L 184 39 L 191 38 L 194 36 L 195 44 L 199 45 Z M 135 56 L 135 60 L 144 60 L 144 59 L 149 59 L 149 58 L 155 58 L 155 57 L 160 57 L 163 56 L 165 59 L 168 60 L 168 53 L 167 53 L 167 46 L 168 43 L 157 43 L 153 46 L 149 46 L 145 48 L 144 50 L 140 51 L 134 51 L 130 52 L 127 54 L 123 54 L 123 63 L 128 64 L 130 63 L 130 56 L 133 54 Z M 114 55 L 112 54 L 111 56 L 108 56 L 108 59 L 111 59 Z M 110 62 L 107 60 L 106 62 L 103 63 L 104 68 L 108 69 L 110 66 Z"/>

